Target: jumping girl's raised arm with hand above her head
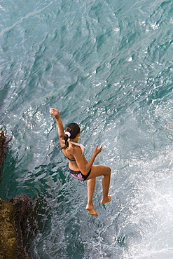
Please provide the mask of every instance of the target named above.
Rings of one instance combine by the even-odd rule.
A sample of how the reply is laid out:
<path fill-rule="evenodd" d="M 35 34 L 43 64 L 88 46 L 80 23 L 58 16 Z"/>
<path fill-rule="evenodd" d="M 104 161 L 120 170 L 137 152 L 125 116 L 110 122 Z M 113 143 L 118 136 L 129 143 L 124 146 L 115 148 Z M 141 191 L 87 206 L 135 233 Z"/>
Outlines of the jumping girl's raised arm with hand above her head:
<path fill-rule="evenodd" d="M 60 112 L 55 108 L 50 108 L 49 110 L 50 116 L 55 117 L 57 123 L 57 132 L 60 139 L 60 145 L 64 146 L 64 127 L 62 124 L 62 119 L 60 116 Z"/>

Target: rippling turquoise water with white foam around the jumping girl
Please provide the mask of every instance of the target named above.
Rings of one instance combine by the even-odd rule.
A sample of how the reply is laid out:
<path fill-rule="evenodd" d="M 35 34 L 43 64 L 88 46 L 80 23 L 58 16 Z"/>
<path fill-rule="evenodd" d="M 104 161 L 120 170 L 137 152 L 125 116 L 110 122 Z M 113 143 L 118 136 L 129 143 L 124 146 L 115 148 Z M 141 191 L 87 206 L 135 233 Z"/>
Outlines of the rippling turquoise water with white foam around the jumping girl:
<path fill-rule="evenodd" d="M 1 198 L 34 199 L 32 259 L 173 258 L 172 1 L 1 1 L 0 129 L 11 138 Z M 112 169 L 110 204 L 85 211 L 55 120 L 81 125 Z"/>

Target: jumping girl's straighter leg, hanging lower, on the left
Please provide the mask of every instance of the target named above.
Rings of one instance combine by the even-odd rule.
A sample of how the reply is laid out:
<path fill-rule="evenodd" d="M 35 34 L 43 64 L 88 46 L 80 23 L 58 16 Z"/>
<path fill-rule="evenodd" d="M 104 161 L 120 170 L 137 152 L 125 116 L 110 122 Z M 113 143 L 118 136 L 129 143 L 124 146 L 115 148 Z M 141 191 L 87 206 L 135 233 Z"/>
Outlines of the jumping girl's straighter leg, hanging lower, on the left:
<path fill-rule="evenodd" d="M 86 209 L 90 213 L 90 215 L 98 216 L 97 212 L 95 211 L 95 207 L 92 202 L 92 197 L 95 191 L 95 178 L 92 178 L 87 181 L 87 188 L 88 188 L 88 204 Z"/>

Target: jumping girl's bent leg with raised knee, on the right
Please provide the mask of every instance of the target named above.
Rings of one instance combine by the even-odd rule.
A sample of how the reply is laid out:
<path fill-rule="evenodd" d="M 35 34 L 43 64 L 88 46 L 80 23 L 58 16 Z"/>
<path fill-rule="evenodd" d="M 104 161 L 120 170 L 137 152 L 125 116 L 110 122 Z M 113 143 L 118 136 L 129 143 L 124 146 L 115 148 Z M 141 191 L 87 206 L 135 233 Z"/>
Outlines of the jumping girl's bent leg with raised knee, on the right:
<path fill-rule="evenodd" d="M 105 204 L 107 202 L 111 202 L 111 196 L 108 195 L 111 179 L 111 168 L 104 167 L 103 165 L 92 165 L 92 171 L 88 177 L 88 181 L 89 179 L 97 176 L 102 176 L 103 199 L 101 200 L 101 203 Z"/>

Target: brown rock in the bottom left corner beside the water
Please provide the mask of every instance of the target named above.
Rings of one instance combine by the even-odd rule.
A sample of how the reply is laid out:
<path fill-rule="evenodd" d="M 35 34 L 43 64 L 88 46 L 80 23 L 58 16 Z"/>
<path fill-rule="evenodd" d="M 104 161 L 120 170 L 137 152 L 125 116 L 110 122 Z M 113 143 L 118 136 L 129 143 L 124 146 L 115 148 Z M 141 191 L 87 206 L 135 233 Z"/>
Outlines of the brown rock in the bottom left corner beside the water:
<path fill-rule="evenodd" d="M 16 195 L 10 202 L 0 199 L 0 259 L 29 259 L 23 239 L 30 204 L 28 195 Z"/>

